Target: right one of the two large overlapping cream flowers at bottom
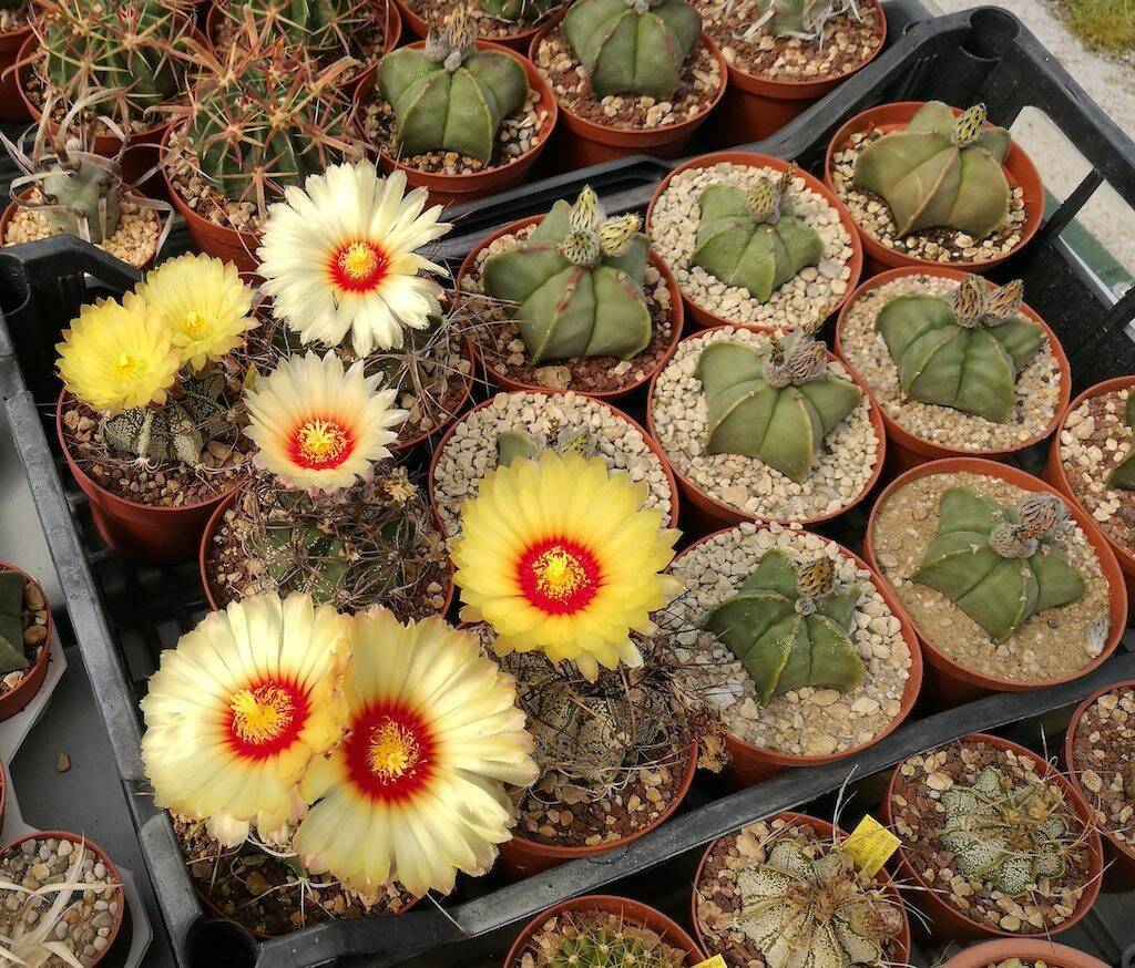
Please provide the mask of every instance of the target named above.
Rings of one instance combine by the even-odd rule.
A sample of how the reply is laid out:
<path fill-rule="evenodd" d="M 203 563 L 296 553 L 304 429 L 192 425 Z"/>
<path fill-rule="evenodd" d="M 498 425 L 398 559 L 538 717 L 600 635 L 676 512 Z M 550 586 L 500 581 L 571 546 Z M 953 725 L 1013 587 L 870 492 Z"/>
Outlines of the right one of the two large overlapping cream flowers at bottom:
<path fill-rule="evenodd" d="M 295 850 L 363 894 L 390 882 L 448 892 L 510 839 L 504 783 L 537 776 L 515 682 L 440 618 L 402 625 L 376 609 L 354 621 L 348 733 L 304 776 L 313 806 Z"/>

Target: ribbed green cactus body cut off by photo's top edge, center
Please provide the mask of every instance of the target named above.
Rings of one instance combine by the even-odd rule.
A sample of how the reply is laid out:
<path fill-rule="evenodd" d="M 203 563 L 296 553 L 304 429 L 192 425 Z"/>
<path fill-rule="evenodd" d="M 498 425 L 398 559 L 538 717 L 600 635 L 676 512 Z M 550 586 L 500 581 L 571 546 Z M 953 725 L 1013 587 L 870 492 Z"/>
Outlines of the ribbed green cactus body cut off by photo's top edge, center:
<path fill-rule="evenodd" d="M 701 15 L 684 0 L 579 0 L 563 33 L 596 100 L 641 94 L 666 101 L 701 34 Z"/>

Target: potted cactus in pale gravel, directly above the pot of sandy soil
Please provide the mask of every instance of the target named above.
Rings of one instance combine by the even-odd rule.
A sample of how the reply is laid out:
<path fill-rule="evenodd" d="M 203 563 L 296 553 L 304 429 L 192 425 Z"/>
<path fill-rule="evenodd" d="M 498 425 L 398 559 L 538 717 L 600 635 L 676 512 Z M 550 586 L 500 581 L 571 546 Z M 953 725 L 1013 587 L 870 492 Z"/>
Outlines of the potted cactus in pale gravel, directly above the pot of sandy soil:
<path fill-rule="evenodd" d="M 894 467 L 1002 459 L 1053 432 L 1071 373 L 1056 333 L 1023 295 L 1019 280 L 997 287 L 940 268 L 894 269 L 852 294 L 835 324 L 835 351 L 878 404 Z"/>

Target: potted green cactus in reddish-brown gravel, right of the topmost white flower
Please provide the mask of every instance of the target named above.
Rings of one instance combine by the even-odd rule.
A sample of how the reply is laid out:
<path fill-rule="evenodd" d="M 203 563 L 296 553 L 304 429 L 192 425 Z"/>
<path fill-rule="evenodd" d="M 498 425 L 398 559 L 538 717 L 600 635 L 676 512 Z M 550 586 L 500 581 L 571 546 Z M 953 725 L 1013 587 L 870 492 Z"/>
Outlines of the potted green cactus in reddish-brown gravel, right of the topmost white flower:
<path fill-rule="evenodd" d="M 505 226 L 457 275 L 462 319 L 495 383 L 621 397 L 650 379 L 682 330 L 678 287 L 634 214 L 574 204 Z"/>

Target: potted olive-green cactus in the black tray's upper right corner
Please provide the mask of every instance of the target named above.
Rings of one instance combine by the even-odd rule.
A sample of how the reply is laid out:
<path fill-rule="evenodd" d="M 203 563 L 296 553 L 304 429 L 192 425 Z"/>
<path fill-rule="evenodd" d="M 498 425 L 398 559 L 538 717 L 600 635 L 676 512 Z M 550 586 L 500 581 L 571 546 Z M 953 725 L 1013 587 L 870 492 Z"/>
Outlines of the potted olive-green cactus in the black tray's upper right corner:
<path fill-rule="evenodd" d="M 832 137 L 824 180 L 848 206 L 874 272 L 984 272 L 1027 244 L 1044 212 L 1040 175 L 984 104 L 869 108 Z"/>

